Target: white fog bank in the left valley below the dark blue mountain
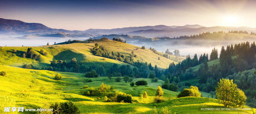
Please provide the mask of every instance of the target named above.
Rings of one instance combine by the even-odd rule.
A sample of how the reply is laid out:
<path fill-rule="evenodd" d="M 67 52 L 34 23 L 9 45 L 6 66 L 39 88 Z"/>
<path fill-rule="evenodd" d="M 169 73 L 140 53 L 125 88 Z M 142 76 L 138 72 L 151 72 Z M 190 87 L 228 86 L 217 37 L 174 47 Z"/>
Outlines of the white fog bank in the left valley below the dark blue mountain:
<path fill-rule="evenodd" d="M 61 37 L 24 37 L 24 36 L 0 36 L 0 46 L 45 46 L 49 42 L 53 45 L 54 42 L 60 43 L 71 40 L 85 40 L 88 38 L 61 38 Z"/>

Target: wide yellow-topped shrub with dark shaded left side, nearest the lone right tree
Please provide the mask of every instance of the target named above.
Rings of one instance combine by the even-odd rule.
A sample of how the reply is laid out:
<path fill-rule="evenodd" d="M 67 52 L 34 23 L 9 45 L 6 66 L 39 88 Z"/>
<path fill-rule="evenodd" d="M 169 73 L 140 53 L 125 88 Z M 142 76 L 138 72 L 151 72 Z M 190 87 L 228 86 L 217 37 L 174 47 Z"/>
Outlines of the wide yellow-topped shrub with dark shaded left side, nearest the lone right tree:
<path fill-rule="evenodd" d="M 189 89 L 184 89 L 178 94 L 179 97 L 189 97 L 189 96 L 194 96 L 194 97 L 200 97 L 201 93 L 199 92 L 198 88 L 195 86 L 190 86 Z"/>

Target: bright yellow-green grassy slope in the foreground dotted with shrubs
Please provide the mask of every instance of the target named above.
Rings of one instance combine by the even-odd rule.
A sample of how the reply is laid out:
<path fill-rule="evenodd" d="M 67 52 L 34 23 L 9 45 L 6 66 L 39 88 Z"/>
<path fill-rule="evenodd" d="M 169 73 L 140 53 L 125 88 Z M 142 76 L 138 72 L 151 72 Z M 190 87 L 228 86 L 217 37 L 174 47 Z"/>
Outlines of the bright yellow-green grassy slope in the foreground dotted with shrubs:
<path fill-rule="evenodd" d="M 130 87 L 129 83 L 114 82 L 106 77 L 91 78 L 93 82 L 87 82 L 89 78 L 85 78 L 84 74 L 78 73 L 63 73 L 52 72 L 47 70 L 31 70 L 22 69 L 11 66 L 0 66 L 0 71 L 7 71 L 5 77 L 0 77 L 0 93 L 16 100 L 16 106 L 24 108 L 40 108 L 45 102 L 64 102 L 72 101 L 78 105 L 82 114 L 85 113 L 153 113 L 154 107 L 160 110 L 167 106 L 172 113 L 227 113 L 227 112 L 205 112 L 198 111 L 199 107 L 221 107 L 216 99 L 205 97 L 183 97 L 175 98 L 177 92 L 165 90 L 164 98 L 166 101 L 161 103 L 151 103 L 155 95 L 157 86 L 164 81 L 152 82 L 150 79 L 135 79 L 146 80 L 147 86 Z M 18 72 L 17 72 L 18 71 Z M 62 75 L 61 80 L 54 80 L 55 74 Z M 99 87 L 101 83 L 113 86 L 114 89 L 128 94 L 132 94 L 133 103 L 105 103 L 103 96 L 84 96 L 81 91 L 84 85 L 90 87 Z M 140 94 L 144 91 L 148 93 L 148 103 L 142 104 Z M 28 112 L 24 112 L 28 113 Z M 36 112 L 29 112 L 36 113 Z M 228 112 L 238 113 L 238 112 Z M 252 112 L 247 112 L 252 113 Z"/>

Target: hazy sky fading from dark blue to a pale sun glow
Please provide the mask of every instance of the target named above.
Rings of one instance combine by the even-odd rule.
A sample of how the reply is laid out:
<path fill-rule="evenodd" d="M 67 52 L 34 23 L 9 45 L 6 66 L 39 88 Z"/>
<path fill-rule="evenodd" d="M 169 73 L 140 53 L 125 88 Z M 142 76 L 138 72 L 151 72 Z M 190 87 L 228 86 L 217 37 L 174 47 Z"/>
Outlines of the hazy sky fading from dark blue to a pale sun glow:
<path fill-rule="evenodd" d="M 0 18 L 54 29 L 199 24 L 256 27 L 255 0 L 0 0 Z"/>

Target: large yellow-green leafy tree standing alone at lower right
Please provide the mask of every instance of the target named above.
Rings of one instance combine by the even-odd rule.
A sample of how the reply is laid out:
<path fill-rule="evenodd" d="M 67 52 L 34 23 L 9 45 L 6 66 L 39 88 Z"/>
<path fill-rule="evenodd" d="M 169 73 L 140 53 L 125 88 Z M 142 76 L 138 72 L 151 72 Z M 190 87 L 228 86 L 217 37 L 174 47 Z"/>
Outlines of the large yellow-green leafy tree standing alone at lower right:
<path fill-rule="evenodd" d="M 244 92 L 237 88 L 233 80 L 222 78 L 215 89 L 217 99 L 225 107 L 243 106 L 246 103 Z"/>

